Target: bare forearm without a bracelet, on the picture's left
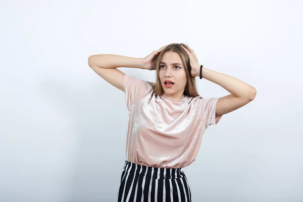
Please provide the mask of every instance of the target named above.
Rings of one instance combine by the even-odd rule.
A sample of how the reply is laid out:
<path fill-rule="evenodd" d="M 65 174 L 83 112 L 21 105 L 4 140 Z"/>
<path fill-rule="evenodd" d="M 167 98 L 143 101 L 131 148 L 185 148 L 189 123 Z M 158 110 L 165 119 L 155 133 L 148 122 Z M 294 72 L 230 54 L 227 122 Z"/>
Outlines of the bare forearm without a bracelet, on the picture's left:
<path fill-rule="evenodd" d="M 92 55 L 88 58 L 88 65 L 96 65 L 98 67 L 113 69 L 117 67 L 130 67 L 144 69 L 141 58 L 131 58 L 126 56 L 101 54 Z"/>

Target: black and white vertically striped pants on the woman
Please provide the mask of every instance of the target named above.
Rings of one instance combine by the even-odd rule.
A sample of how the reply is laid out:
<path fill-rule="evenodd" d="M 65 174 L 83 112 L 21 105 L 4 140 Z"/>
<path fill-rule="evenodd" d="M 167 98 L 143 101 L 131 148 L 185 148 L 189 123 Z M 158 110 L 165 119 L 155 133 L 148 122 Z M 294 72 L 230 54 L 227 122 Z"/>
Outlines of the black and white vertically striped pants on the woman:
<path fill-rule="evenodd" d="M 181 168 L 154 168 L 125 161 L 118 202 L 190 202 L 191 192 Z"/>

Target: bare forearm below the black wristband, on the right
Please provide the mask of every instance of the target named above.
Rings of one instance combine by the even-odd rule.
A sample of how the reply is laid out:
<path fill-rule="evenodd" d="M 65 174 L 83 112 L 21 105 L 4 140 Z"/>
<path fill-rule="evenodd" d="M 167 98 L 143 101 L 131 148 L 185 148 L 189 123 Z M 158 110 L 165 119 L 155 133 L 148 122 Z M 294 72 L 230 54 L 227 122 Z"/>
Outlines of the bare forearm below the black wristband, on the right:
<path fill-rule="evenodd" d="M 239 79 L 222 74 L 207 68 L 202 69 L 203 78 L 212 81 L 236 97 L 247 97 L 253 99 L 256 95 L 256 89 Z"/>

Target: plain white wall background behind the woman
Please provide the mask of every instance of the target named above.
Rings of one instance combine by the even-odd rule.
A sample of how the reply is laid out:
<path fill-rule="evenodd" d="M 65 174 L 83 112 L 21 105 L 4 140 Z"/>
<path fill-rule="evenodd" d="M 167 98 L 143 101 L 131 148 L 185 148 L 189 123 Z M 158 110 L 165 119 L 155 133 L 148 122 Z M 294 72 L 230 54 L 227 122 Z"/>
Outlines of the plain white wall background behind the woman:
<path fill-rule="evenodd" d="M 302 1 L 1 1 L 0 17 L 0 201 L 116 201 L 125 96 L 87 59 L 173 42 L 257 89 L 183 169 L 192 200 L 303 200 Z M 203 97 L 228 94 L 196 81 Z"/>

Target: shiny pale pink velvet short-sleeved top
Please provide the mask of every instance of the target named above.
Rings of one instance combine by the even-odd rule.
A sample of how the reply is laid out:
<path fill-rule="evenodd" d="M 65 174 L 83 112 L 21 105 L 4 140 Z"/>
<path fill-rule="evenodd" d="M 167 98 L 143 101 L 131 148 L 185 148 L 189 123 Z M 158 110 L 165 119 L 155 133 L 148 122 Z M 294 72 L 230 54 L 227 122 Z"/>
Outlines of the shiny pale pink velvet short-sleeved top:
<path fill-rule="evenodd" d="M 158 168 L 190 165 L 205 130 L 222 117 L 216 117 L 219 98 L 155 96 L 148 82 L 128 74 L 123 85 L 128 109 L 126 160 Z"/>

